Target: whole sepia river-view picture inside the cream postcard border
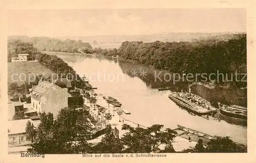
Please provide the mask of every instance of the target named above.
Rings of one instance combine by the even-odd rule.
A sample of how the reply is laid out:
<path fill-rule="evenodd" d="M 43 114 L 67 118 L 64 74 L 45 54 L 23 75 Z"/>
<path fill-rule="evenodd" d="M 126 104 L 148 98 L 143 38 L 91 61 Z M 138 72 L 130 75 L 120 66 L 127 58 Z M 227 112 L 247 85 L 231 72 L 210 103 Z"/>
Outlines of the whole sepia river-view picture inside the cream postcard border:
<path fill-rule="evenodd" d="M 8 155 L 248 152 L 246 8 L 6 13 Z"/>

